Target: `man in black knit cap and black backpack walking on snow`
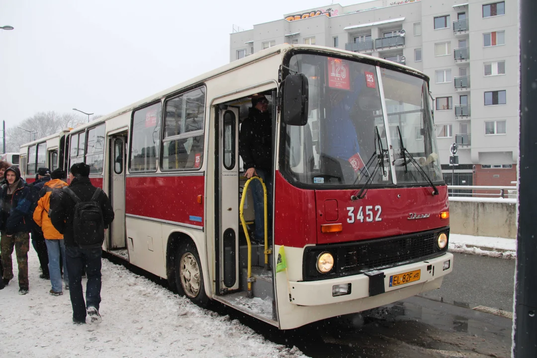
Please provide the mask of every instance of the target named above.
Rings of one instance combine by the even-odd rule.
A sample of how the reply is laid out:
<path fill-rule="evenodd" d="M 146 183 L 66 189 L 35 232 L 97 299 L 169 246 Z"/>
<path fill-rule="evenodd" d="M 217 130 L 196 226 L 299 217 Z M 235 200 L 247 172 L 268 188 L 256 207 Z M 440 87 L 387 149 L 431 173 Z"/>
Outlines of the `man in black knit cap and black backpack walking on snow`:
<path fill-rule="evenodd" d="M 101 255 L 105 230 L 114 220 L 108 196 L 91 185 L 90 166 L 76 163 L 69 170 L 70 185 L 50 195 L 50 222 L 66 245 L 72 320 L 100 323 Z M 82 292 L 82 268 L 86 268 L 86 302 Z"/>

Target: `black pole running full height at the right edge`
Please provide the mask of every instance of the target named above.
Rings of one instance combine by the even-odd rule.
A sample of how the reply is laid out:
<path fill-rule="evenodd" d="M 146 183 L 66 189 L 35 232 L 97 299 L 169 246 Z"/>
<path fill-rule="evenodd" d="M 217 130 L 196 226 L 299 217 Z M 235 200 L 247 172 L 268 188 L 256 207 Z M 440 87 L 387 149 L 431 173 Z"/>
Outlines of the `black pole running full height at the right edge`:
<path fill-rule="evenodd" d="M 514 357 L 537 357 L 537 2 L 520 1 L 520 161 Z"/>

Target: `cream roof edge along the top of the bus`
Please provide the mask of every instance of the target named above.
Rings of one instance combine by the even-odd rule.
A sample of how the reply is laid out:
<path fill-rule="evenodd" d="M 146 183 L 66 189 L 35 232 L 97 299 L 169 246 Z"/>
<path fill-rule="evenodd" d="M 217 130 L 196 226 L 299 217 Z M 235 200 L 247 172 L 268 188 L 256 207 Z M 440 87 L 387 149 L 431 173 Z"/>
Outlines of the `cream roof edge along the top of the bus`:
<path fill-rule="evenodd" d="M 71 131 L 78 131 L 78 130 L 82 130 L 82 129 L 86 128 L 86 127 L 94 126 L 97 123 L 104 122 L 107 119 L 113 118 L 115 116 L 118 116 L 120 114 L 129 112 L 129 111 L 132 111 L 135 108 L 141 107 L 143 105 L 152 103 L 152 102 L 154 102 L 154 101 L 156 101 L 158 99 L 166 97 L 170 93 L 179 92 L 180 90 L 182 90 L 182 89 L 184 89 L 186 87 L 192 86 L 192 85 L 197 84 L 197 83 L 204 82 L 209 78 L 219 76 L 219 75 L 221 75 L 221 74 L 223 74 L 225 72 L 228 72 L 228 71 L 233 70 L 235 68 L 242 67 L 242 66 L 244 66 L 244 65 L 246 65 L 248 63 L 256 62 L 256 61 L 258 61 L 260 59 L 263 59 L 264 57 L 269 57 L 269 56 L 273 56 L 273 55 L 276 55 L 276 54 L 279 54 L 279 53 L 287 52 L 289 49 L 292 49 L 292 48 L 315 49 L 315 50 L 318 50 L 318 51 L 321 51 L 321 52 L 324 50 L 327 53 L 339 53 L 339 54 L 346 55 L 346 56 L 353 56 L 353 57 L 356 57 L 358 59 L 359 58 L 371 59 L 371 60 L 374 60 L 374 61 L 377 61 L 377 62 L 382 62 L 382 63 L 389 64 L 390 66 L 393 66 L 393 67 L 395 66 L 395 67 L 403 68 L 403 69 L 405 69 L 405 70 L 407 70 L 409 72 L 412 72 L 413 74 L 426 77 L 427 79 L 429 78 L 428 76 L 423 74 L 423 72 L 420 72 L 420 71 L 418 71 L 416 69 L 413 69 L 411 67 L 408 67 L 408 66 L 405 66 L 405 65 L 402 65 L 402 64 L 398 64 L 398 63 L 395 63 L 395 62 L 392 62 L 392 61 L 384 60 L 384 59 L 381 59 L 379 57 L 373 57 L 373 56 L 369 56 L 369 55 L 365 55 L 365 54 L 359 54 L 359 53 L 355 53 L 355 52 L 351 52 L 351 51 L 347 51 L 347 50 L 341 50 L 341 49 L 332 48 L 332 47 L 324 47 L 324 46 L 316 46 L 316 45 L 289 45 L 288 43 L 284 43 L 282 45 L 276 45 L 276 46 L 269 47 L 267 49 L 264 49 L 264 50 L 261 50 L 259 52 L 256 52 L 255 54 L 245 56 L 240 60 L 230 62 L 230 63 L 225 64 L 225 65 L 223 65 L 223 66 L 221 66 L 219 68 L 216 68 L 216 69 L 214 69 L 212 71 L 206 72 L 205 74 L 201 74 L 201 75 L 196 76 L 194 78 L 188 79 L 185 82 L 182 82 L 182 83 L 179 83 L 179 84 L 177 84 L 175 86 L 169 87 L 168 89 L 165 89 L 163 91 L 160 91 L 160 92 L 154 94 L 153 96 L 149 96 L 149 97 L 144 98 L 144 99 L 142 99 L 140 101 L 137 101 L 137 102 L 135 102 L 133 104 L 130 104 L 130 105 L 124 107 L 124 108 L 121 108 L 118 111 L 115 111 L 115 112 L 112 112 L 112 113 L 107 114 L 105 116 L 102 116 L 102 117 L 100 117 L 100 118 L 98 118 L 96 120 L 93 120 L 93 121 L 89 122 L 89 123 L 84 123 L 84 125 L 81 125 L 81 126 L 78 126 L 76 128 L 73 128 L 73 129 L 71 129 Z M 42 142 L 43 140 L 45 140 L 45 138 L 41 138 L 41 140 L 34 141 L 32 143 Z M 32 144 L 32 143 L 28 143 L 28 144 Z"/>

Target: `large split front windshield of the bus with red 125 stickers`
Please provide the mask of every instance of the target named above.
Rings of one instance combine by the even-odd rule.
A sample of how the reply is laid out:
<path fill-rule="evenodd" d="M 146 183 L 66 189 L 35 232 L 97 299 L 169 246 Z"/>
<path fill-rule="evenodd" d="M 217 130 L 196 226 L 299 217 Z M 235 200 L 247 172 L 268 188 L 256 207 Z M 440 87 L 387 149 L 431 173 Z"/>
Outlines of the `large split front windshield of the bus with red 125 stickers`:
<path fill-rule="evenodd" d="M 442 181 L 422 78 L 381 68 L 379 79 L 372 64 L 317 54 L 295 54 L 289 68 L 309 84 L 307 125 L 285 126 L 281 166 L 293 179 L 357 187 Z"/>

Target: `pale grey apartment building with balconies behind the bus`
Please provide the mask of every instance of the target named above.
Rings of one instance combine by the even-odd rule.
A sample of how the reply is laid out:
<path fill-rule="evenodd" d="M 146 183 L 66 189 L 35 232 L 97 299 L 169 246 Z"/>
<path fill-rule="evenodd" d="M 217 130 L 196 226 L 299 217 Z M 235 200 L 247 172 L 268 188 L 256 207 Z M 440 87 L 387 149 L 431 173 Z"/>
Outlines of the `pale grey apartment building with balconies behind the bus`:
<path fill-rule="evenodd" d="M 230 61 L 280 43 L 346 49 L 406 64 L 431 78 L 446 181 L 517 180 L 517 0 L 375 0 L 285 14 L 230 35 Z M 459 165 L 449 148 L 459 145 Z"/>

